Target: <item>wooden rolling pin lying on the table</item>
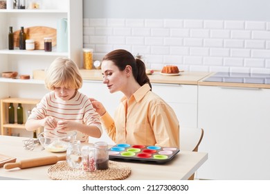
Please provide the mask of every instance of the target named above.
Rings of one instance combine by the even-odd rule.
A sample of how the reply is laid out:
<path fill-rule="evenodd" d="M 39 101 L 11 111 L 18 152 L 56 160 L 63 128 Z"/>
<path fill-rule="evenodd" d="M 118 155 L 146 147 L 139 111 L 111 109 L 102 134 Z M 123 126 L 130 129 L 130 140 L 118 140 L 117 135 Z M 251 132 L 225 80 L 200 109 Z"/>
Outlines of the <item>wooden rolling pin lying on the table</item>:
<path fill-rule="evenodd" d="M 3 166 L 5 169 L 11 169 L 19 167 L 23 168 L 32 168 L 36 166 L 45 166 L 49 164 L 56 164 L 57 161 L 66 160 L 66 155 L 57 157 L 57 156 L 49 156 L 49 157 L 39 157 L 35 159 L 24 159 L 19 162 L 7 163 Z"/>

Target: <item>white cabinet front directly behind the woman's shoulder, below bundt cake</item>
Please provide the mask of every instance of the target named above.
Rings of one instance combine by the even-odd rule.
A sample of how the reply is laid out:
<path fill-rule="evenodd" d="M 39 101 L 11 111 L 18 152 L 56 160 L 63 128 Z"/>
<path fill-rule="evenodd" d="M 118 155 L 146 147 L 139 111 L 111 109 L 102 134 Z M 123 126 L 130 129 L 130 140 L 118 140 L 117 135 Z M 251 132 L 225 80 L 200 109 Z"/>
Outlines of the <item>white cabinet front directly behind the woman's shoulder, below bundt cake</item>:
<path fill-rule="evenodd" d="M 197 85 L 152 83 L 152 91 L 174 109 L 180 127 L 197 127 Z"/>

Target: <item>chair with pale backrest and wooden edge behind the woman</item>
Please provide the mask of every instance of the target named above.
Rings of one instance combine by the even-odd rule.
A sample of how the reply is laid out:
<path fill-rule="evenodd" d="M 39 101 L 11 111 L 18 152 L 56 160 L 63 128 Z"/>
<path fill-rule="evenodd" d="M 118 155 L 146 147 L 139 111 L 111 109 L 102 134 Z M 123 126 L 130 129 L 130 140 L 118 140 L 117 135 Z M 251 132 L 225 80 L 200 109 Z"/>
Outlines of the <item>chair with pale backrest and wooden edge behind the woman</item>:
<path fill-rule="evenodd" d="M 180 151 L 188 150 L 197 152 L 199 144 L 204 137 L 204 130 L 201 128 L 180 128 Z M 195 174 L 189 180 L 194 180 Z"/>

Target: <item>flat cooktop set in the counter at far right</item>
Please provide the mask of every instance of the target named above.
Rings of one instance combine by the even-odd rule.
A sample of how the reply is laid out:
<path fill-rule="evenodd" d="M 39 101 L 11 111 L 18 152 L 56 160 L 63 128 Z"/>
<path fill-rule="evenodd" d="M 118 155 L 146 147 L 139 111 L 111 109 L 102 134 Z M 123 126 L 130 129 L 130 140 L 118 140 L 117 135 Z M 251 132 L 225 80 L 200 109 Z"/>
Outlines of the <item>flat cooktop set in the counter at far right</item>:
<path fill-rule="evenodd" d="M 206 78 L 204 82 L 235 82 L 267 85 L 270 84 L 270 74 L 217 72 L 213 76 Z"/>

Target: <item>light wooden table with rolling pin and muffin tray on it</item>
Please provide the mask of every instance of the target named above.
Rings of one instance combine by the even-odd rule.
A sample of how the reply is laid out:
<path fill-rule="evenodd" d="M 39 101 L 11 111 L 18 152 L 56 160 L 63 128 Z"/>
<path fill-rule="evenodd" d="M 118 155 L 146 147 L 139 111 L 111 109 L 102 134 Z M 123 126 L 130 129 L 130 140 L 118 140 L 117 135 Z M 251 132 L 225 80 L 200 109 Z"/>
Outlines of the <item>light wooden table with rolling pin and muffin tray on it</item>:
<path fill-rule="evenodd" d="M 26 137 L 18 136 L 3 136 L 0 135 L 0 153 L 16 157 L 17 161 L 22 159 L 32 159 L 38 157 L 46 157 L 50 155 L 65 155 L 65 153 L 52 153 L 42 150 L 41 145 L 38 145 L 34 150 L 25 150 L 23 148 L 23 140 Z M 145 179 L 188 179 L 198 168 L 208 159 L 208 154 L 204 152 L 189 152 L 180 150 L 180 152 L 165 164 L 150 164 L 145 162 L 123 162 L 129 166 L 132 173 L 127 179 L 145 180 Z M 47 166 L 39 166 L 35 168 L 13 168 L 6 170 L 0 168 L 0 179 L 35 179 L 46 180 L 50 179 L 47 175 Z"/>

